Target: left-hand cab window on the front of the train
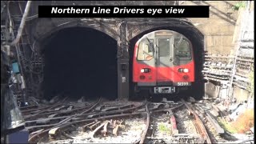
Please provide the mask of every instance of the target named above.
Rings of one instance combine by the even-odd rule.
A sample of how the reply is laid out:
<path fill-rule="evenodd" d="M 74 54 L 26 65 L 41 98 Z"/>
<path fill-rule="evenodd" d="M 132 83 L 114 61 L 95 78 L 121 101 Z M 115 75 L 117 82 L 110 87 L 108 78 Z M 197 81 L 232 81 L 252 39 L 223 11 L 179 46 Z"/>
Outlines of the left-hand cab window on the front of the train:
<path fill-rule="evenodd" d="M 154 58 L 154 40 L 144 38 L 138 44 L 137 59 L 139 61 L 150 61 L 152 58 Z"/>

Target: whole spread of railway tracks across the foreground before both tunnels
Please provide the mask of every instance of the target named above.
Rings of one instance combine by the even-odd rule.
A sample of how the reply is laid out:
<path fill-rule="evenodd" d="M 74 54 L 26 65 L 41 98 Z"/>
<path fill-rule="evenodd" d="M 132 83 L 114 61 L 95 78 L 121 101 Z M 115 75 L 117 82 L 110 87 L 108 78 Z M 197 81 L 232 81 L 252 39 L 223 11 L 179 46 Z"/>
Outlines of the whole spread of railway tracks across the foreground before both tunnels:
<path fill-rule="evenodd" d="M 87 103 L 68 104 L 64 101 L 22 110 L 27 115 L 29 143 L 217 142 L 213 138 L 216 134 L 208 134 L 209 126 L 214 127 L 213 120 L 204 122 L 205 117 L 210 117 L 209 113 L 204 110 L 204 114 L 198 114 L 198 105 L 192 106 L 183 99 L 177 103 L 102 102 L 102 98 Z M 82 106 L 74 107 L 78 104 Z M 40 112 L 33 115 L 38 110 Z"/>

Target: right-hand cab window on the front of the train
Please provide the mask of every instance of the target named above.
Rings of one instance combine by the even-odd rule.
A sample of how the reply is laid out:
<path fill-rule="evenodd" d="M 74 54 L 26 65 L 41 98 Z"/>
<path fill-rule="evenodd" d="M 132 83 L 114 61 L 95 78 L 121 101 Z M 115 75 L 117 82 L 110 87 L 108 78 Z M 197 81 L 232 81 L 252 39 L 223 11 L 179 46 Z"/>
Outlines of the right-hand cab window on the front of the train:
<path fill-rule="evenodd" d="M 191 58 L 190 43 L 184 38 L 175 38 L 175 56 Z"/>

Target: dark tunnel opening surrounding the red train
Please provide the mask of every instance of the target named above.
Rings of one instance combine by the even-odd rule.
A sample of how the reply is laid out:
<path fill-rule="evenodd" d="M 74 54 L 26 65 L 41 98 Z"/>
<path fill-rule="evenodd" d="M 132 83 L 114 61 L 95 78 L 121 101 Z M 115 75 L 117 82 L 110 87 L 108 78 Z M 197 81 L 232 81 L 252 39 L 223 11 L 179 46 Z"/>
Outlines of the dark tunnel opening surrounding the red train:
<path fill-rule="evenodd" d="M 134 94 L 134 82 L 133 82 L 133 72 L 132 72 L 132 67 L 133 67 L 133 58 L 134 58 L 134 46 L 135 43 L 138 42 L 140 38 L 144 34 L 148 34 L 152 31 L 155 30 L 173 30 L 176 31 L 180 34 L 183 34 L 186 36 L 186 38 L 190 39 L 192 42 L 193 46 L 193 53 L 194 53 L 194 62 L 195 62 L 195 82 L 192 85 L 192 90 L 186 91 L 185 93 L 182 94 L 177 94 L 175 95 L 175 98 L 177 96 L 190 96 L 194 97 L 196 99 L 202 99 L 202 97 L 205 94 L 205 82 L 203 80 L 203 75 L 202 75 L 202 69 L 203 69 L 203 62 L 204 62 L 204 36 L 203 34 L 196 30 L 195 28 L 192 28 L 191 26 L 162 26 L 162 27 L 157 27 L 154 29 L 146 30 L 142 32 L 141 34 L 138 34 L 136 37 L 132 38 L 130 40 L 130 95 Z M 174 96 L 174 94 L 172 94 Z M 172 97 L 170 96 L 170 98 Z M 160 98 L 160 95 L 159 95 Z M 185 97 L 187 98 L 187 97 Z"/>

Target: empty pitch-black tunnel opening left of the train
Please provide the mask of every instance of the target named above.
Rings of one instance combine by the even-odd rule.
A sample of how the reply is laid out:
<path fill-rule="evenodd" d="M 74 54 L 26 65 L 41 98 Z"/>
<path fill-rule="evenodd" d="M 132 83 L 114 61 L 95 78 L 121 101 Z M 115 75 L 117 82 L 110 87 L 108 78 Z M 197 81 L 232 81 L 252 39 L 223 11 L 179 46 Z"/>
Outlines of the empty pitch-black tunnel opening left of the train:
<path fill-rule="evenodd" d="M 74 27 L 48 37 L 42 90 L 48 100 L 69 98 L 115 99 L 118 94 L 117 42 L 98 30 Z"/>

